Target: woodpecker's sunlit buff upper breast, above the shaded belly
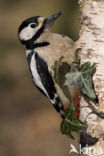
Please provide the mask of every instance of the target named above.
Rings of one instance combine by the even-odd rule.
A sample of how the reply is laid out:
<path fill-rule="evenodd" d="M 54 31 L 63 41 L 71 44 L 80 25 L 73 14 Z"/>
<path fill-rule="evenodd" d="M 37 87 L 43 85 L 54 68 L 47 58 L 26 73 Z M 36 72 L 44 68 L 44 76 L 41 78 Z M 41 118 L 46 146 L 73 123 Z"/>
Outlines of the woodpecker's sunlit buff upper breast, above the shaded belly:
<path fill-rule="evenodd" d="M 68 41 L 67 41 L 68 42 Z M 46 47 L 37 48 L 38 55 L 47 62 L 48 67 L 52 68 L 55 61 L 58 61 L 61 56 L 64 56 L 62 62 L 71 63 L 74 61 L 75 46 L 67 42 L 58 40 L 51 41 Z"/>

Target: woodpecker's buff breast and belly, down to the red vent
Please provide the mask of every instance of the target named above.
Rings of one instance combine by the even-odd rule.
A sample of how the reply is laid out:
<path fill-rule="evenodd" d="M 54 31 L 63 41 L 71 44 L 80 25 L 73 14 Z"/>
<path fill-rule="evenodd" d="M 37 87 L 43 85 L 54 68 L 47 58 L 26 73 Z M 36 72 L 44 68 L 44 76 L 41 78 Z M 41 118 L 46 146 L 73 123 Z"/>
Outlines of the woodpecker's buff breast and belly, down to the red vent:
<path fill-rule="evenodd" d="M 55 61 L 58 61 L 61 58 L 61 56 L 64 57 L 59 71 L 60 84 L 56 84 L 56 88 L 62 102 L 66 104 L 69 101 L 70 89 L 63 86 L 63 84 L 65 82 L 65 74 L 70 68 L 69 63 L 74 61 L 76 47 L 75 43 L 68 37 L 62 37 L 58 34 L 53 36 L 54 37 L 48 38 L 48 42 L 50 43 L 48 46 L 37 48 L 36 51 L 38 55 L 46 61 L 53 79 L 54 71 L 52 66 Z"/>

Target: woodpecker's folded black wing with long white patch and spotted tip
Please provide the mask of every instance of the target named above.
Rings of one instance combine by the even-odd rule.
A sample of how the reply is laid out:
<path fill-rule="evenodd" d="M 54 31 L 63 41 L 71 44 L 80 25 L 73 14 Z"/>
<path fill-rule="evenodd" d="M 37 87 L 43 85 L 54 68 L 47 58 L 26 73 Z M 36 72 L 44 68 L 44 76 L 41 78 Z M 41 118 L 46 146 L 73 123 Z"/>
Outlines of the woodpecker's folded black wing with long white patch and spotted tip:
<path fill-rule="evenodd" d="M 56 93 L 55 84 L 47 63 L 37 53 L 34 53 L 31 57 L 30 70 L 35 85 L 49 98 L 57 112 L 63 117 L 64 108 Z"/>

